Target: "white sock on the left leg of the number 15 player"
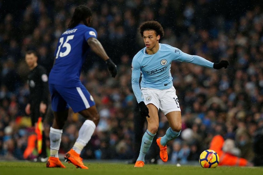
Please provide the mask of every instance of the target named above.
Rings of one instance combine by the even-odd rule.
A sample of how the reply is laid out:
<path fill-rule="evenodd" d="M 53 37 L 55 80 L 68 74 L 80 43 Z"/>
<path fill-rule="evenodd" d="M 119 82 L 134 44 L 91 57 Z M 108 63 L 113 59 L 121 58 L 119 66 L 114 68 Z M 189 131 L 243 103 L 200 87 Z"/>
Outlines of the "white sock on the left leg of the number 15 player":
<path fill-rule="evenodd" d="M 62 129 L 50 127 L 50 157 L 58 157 L 58 150 L 61 142 Z"/>

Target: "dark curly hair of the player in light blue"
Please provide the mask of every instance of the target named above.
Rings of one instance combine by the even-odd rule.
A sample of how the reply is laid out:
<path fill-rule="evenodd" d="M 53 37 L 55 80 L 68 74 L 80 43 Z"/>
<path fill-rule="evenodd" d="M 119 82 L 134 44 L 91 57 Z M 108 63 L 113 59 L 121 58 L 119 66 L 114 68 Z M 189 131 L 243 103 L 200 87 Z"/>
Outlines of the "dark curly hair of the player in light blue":
<path fill-rule="evenodd" d="M 143 31 L 145 30 L 154 30 L 156 36 L 160 35 L 161 37 L 164 36 L 164 31 L 162 25 L 157 21 L 146 21 L 143 22 L 139 27 L 139 32 L 141 36 L 143 36 Z"/>

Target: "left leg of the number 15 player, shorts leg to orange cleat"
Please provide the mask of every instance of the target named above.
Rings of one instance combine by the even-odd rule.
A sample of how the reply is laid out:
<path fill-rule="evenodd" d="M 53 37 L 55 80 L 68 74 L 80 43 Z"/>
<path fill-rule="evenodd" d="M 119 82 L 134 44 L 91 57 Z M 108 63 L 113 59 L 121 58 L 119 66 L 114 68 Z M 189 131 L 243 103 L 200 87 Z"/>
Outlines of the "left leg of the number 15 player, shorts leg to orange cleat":
<path fill-rule="evenodd" d="M 46 163 L 46 167 L 60 167 L 65 166 L 60 162 L 58 158 L 58 150 L 61 142 L 61 135 L 63 132 L 63 126 L 68 118 L 68 104 L 63 97 L 58 93 L 55 85 L 49 84 L 49 90 L 51 93 L 51 104 L 54 111 L 54 121 L 52 127 L 50 127 L 50 157 Z"/>

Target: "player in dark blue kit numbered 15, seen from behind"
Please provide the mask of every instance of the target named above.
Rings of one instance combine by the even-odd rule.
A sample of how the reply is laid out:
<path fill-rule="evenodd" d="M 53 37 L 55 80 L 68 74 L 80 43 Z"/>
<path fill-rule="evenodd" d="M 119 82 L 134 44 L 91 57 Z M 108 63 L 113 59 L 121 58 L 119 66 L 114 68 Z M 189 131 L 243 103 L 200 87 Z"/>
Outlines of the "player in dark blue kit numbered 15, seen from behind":
<path fill-rule="evenodd" d="M 84 5 L 78 6 L 68 30 L 61 34 L 55 51 L 55 62 L 49 74 L 49 90 L 55 119 L 50 128 L 50 157 L 46 167 L 65 168 L 58 159 L 58 150 L 70 106 L 75 113 L 80 113 L 86 120 L 79 129 L 77 141 L 64 158 L 77 168 L 88 169 L 82 162 L 80 152 L 91 139 L 99 122 L 94 99 L 79 80 L 81 67 L 89 50 L 94 51 L 106 62 L 112 77 L 117 74 L 117 66 L 96 39 L 96 30 L 89 27 L 91 20 L 90 8 Z"/>

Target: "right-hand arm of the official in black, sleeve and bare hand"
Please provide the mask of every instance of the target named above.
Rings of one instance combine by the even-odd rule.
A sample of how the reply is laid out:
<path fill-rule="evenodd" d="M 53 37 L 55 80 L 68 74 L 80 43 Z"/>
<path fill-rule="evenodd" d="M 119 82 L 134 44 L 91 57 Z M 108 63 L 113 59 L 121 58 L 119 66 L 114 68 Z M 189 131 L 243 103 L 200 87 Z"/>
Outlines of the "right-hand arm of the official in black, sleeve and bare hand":
<path fill-rule="evenodd" d="M 41 82 L 41 99 L 40 99 L 40 106 L 39 111 L 41 113 L 46 112 L 47 108 L 47 102 L 48 102 L 48 93 L 49 93 L 49 85 L 48 85 L 48 76 L 46 75 L 45 69 L 39 69 L 39 75 L 40 75 L 40 82 Z"/>

